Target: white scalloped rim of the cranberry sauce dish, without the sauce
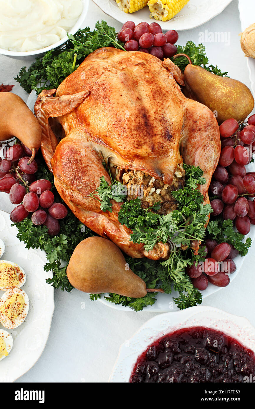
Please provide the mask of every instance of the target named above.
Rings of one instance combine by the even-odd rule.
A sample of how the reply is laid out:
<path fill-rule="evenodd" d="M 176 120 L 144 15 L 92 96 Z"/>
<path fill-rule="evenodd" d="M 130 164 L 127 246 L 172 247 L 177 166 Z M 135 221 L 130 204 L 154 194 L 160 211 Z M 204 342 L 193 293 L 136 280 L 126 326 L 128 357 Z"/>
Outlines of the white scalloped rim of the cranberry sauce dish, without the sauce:
<path fill-rule="evenodd" d="M 255 328 L 247 318 L 213 307 L 197 306 L 149 319 L 120 347 L 109 382 L 129 382 L 137 358 L 156 339 L 180 328 L 203 326 L 222 331 L 255 352 Z"/>

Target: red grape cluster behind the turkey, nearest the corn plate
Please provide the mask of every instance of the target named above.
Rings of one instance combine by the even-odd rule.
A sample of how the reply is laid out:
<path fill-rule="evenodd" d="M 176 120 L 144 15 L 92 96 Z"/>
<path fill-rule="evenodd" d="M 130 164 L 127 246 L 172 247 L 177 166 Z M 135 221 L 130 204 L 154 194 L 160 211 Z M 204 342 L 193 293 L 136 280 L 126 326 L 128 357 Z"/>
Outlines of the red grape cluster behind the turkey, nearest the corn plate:
<path fill-rule="evenodd" d="M 174 43 L 178 38 L 175 30 L 169 30 L 163 34 L 160 25 L 156 22 L 151 24 L 141 22 L 135 25 L 133 21 L 127 21 L 118 32 L 118 39 L 125 43 L 126 51 L 142 51 L 160 60 L 176 54 L 177 47 Z"/>

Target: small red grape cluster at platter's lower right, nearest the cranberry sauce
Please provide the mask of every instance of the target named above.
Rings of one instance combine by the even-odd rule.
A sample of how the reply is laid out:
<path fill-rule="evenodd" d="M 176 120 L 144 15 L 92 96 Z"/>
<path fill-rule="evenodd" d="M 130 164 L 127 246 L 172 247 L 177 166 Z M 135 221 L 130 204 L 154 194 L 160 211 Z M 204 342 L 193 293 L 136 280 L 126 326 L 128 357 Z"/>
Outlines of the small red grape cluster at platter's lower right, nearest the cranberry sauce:
<path fill-rule="evenodd" d="M 205 261 L 186 267 L 195 288 L 206 290 L 208 282 L 217 287 L 226 287 L 230 283 L 229 275 L 237 269 L 233 258 L 239 254 L 232 244 L 205 240 Z"/>

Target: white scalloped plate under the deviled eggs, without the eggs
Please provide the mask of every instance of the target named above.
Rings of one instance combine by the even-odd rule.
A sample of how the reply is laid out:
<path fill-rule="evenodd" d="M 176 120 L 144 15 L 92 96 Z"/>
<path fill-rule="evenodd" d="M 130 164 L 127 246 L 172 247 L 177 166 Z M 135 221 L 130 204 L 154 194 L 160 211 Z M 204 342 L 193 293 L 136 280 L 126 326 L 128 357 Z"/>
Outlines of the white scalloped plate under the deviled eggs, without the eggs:
<path fill-rule="evenodd" d="M 5 243 L 4 257 L 25 270 L 27 280 L 21 290 L 29 298 L 27 318 L 18 328 L 7 330 L 13 337 L 13 348 L 0 362 L 0 382 L 14 382 L 26 373 L 41 356 L 49 333 L 54 312 L 54 289 L 45 282 L 52 272 L 45 272 L 45 252 L 26 249 L 16 237 L 16 226 L 11 227 L 9 213 L 0 211 L 0 238 Z M 4 291 L 0 291 L 0 297 Z M 1 324 L 0 328 L 5 329 Z"/>

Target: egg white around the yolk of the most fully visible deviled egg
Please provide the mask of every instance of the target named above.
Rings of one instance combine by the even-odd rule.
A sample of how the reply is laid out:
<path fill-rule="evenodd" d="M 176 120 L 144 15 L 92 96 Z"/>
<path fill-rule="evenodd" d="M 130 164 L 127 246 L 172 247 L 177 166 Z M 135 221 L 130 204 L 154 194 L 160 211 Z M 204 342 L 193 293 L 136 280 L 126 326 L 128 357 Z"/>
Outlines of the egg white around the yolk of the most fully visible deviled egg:
<path fill-rule="evenodd" d="M 20 315 L 18 315 L 17 318 L 14 318 L 13 320 L 10 320 L 0 310 L 0 322 L 1 322 L 1 324 L 5 328 L 10 328 L 10 329 L 17 328 L 18 326 L 20 326 L 20 324 L 22 324 L 23 321 L 25 321 L 25 318 L 27 317 L 27 313 L 28 313 L 28 310 L 29 310 L 29 299 L 27 297 L 27 294 L 25 293 L 25 291 L 20 290 L 20 288 L 11 288 L 11 289 L 7 290 L 5 292 L 5 294 L 3 294 L 1 299 L 0 299 L 0 308 L 5 303 L 5 301 L 8 298 L 11 298 L 11 296 L 14 295 L 14 294 L 22 295 L 24 297 L 24 300 L 25 300 L 25 304 L 24 304 L 23 310 L 20 313 Z"/>

